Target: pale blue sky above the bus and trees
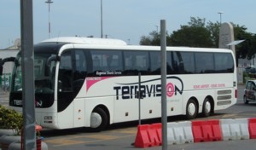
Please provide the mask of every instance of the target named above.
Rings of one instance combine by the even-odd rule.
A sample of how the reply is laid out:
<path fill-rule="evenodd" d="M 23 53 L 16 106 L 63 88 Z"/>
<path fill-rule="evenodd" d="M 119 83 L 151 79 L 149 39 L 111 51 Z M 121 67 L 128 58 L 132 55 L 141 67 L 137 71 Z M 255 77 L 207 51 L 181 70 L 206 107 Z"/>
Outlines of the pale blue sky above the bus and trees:
<path fill-rule="evenodd" d="M 101 0 L 33 0 L 33 43 L 56 37 L 101 38 Z M 256 33 L 255 0 L 102 0 L 104 37 L 139 44 L 149 32 L 160 32 L 160 20 L 172 33 L 188 25 L 190 17 L 233 22 Z M 222 12 L 223 14 L 218 14 Z M 20 1 L 1 0 L 0 49 L 20 38 Z M 50 34 L 49 34 L 50 22 Z"/>

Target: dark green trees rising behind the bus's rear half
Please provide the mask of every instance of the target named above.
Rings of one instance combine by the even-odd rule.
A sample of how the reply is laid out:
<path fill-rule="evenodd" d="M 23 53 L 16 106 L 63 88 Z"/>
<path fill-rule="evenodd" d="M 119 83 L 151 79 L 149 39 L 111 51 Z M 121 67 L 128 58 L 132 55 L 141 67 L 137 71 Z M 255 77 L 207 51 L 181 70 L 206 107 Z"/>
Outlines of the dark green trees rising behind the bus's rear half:
<path fill-rule="evenodd" d="M 236 45 L 236 59 L 252 59 L 256 53 L 256 35 L 247 32 L 245 26 L 239 26 L 232 23 L 234 27 L 235 40 L 245 40 L 245 42 Z M 172 34 L 166 34 L 166 44 L 168 46 L 189 46 L 189 47 L 208 47 L 218 48 L 220 23 L 209 21 L 206 25 L 206 19 L 199 17 L 190 17 L 188 25 L 183 25 Z M 141 45 L 160 45 L 160 33 L 150 32 L 149 36 L 143 36 Z"/>

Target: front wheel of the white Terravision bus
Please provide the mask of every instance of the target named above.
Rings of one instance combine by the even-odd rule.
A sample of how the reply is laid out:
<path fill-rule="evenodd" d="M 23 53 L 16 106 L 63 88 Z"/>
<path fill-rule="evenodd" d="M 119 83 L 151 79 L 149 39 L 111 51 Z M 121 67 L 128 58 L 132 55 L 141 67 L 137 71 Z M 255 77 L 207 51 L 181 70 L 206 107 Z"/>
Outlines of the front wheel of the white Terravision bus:
<path fill-rule="evenodd" d="M 107 126 L 108 126 L 107 113 L 102 108 L 96 107 L 96 109 L 90 114 L 91 130 L 98 132 L 106 129 Z"/>

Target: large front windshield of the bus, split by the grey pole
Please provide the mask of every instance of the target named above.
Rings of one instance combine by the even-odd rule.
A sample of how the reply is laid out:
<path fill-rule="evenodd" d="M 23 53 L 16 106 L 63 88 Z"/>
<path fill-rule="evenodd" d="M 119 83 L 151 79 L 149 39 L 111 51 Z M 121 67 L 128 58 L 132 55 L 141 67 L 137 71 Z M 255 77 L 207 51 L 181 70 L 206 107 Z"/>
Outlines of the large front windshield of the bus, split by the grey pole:
<path fill-rule="evenodd" d="M 47 64 L 51 54 L 35 53 L 34 55 L 34 81 L 35 93 L 54 93 L 55 89 L 55 61 L 50 61 Z M 22 78 L 21 78 L 21 55 L 17 56 L 15 63 L 14 85 L 13 91 L 22 91 Z"/>

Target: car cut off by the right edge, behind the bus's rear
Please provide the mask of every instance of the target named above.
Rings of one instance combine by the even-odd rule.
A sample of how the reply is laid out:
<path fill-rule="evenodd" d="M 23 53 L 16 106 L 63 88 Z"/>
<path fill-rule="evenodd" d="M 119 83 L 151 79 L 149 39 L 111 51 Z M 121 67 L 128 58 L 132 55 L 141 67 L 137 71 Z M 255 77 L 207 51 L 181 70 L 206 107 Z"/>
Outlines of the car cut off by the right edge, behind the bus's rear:
<path fill-rule="evenodd" d="M 248 80 L 244 89 L 243 102 L 256 101 L 256 80 Z"/>

